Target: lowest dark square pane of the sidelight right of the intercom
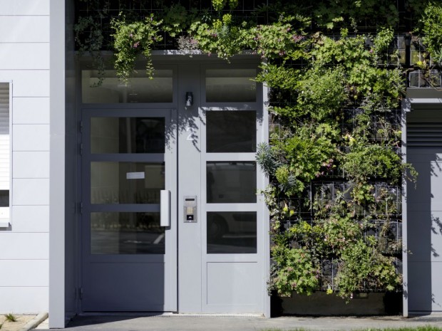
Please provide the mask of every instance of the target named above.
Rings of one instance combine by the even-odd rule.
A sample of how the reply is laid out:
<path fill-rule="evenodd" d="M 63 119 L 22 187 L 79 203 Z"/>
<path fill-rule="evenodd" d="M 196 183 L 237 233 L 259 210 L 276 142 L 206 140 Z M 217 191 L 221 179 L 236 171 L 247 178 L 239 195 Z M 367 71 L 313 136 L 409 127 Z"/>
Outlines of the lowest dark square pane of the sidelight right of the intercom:
<path fill-rule="evenodd" d="M 256 253 L 255 211 L 207 213 L 207 253 Z"/>

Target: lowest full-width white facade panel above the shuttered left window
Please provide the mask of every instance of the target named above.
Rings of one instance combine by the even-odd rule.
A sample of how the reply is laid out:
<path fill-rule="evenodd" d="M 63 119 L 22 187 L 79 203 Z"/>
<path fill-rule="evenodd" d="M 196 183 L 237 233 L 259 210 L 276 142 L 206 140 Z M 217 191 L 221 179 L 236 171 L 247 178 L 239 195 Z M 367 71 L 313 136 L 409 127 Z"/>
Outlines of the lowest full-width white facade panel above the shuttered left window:
<path fill-rule="evenodd" d="M 0 70 L 48 68 L 49 43 L 0 43 Z"/>

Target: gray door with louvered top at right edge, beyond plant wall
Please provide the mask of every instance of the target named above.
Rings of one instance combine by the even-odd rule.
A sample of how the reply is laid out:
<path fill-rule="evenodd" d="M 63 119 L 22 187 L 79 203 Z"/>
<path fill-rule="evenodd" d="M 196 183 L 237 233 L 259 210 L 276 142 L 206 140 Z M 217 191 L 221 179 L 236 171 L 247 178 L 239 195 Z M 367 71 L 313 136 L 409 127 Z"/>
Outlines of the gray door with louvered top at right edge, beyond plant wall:
<path fill-rule="evenodd" d="M 418 172 L 406 194 L 408 310 L 441 312 L 442 119 L 440 110 L 416 110 L 407 121 L 406 159 Z"/>

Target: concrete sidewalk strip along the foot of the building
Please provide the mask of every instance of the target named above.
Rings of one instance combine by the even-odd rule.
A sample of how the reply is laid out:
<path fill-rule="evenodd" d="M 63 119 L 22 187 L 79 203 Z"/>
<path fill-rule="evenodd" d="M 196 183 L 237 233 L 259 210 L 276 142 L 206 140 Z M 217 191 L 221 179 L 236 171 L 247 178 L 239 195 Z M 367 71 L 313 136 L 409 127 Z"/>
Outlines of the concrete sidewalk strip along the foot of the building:
<path fill-rule="evenodd" d="M 66 327 L 69 331 L 259 331 L 259 330 L 360 330 L 363 328 L 442 328 L 442 315 L 404 318 L 383 317 L 250 317 L 250 316 L 79 316 Z M 48 330 L 41 329 L 39 330 Z"/>

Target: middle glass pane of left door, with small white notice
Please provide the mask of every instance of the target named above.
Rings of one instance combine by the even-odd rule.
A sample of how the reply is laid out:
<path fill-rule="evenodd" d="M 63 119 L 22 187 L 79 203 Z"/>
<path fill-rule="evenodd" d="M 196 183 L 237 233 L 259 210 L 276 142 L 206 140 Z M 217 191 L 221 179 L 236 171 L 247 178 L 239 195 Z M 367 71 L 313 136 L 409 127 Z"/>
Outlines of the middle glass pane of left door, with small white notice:
<path fill-rule="evenodd" d="M 159 204 L 164 163 L 91 162 L 91 204 Z"/>

